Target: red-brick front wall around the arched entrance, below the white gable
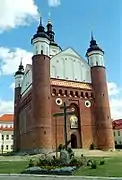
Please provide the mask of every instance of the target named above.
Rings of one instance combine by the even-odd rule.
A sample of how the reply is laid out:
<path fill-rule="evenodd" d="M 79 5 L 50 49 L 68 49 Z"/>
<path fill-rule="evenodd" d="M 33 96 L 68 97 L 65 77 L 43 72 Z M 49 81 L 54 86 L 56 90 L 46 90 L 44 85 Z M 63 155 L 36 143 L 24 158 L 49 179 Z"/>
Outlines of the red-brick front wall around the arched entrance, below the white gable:
<path fill-rule="evenodd" d="M 52 114 L 63 112 L 60 106 L 56 104 L 56 99 L 61 98 L 68 105 L 76 105 L 79 108 L 79 127 L 78 129 L 70 128 L 70 118 L 68 116 L 68 140 L 71 139 L 71 134 L 77 136 L 78 148 L 89 148 L 95 142 L 95 119 L 94 119 L 94 100 L 93 93 L 89 90 L 66 87 L 51 87 L 52 92 Z M 73 92 L 73 94 L 71 93 Z M 72 94 L 72 96 L 71 96 Z M 65 97 L 66 96 L 66 97 Z M 71 96 L 71 97 L 70 97 Z M 89 100 L 91 107 L 86 107 L 85 102 Z M 71 111 L 71 109 L 69 110 Z M 52 117 L 52 132 L 53 132 L 53 148 L 59 144 L 64 144 L 64 117 Z M 56 133 L 58 135 L 56 136 Z"/>

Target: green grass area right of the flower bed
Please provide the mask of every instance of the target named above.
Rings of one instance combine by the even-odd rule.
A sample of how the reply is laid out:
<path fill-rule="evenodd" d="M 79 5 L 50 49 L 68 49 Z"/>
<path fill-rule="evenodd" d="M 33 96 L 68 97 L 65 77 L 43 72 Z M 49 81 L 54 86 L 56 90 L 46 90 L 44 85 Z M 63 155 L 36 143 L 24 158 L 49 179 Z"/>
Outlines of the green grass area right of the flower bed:
<path fill-rule="evenodd" d="M 91 169 L 90 167 L 81 167 L 75 175 L 77 176 L 105 176 L 105 177 L 122 177 L 122 157 L 110 157 L 104 158 L 105 164 L 99 165 L 101 158 L 95 159 L 97 162 L 97 168 Z"/>

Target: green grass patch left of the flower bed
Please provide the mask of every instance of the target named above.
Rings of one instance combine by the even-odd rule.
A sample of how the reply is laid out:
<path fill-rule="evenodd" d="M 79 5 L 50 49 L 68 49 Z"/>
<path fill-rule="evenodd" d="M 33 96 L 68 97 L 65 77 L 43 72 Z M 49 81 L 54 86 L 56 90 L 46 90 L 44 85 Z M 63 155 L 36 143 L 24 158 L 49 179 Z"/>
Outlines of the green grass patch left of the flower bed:
<path fill-rule="evenodd" d="M 0 173 L 21 173 L 27 166 L 26 161 L 0 161 Z"/>

